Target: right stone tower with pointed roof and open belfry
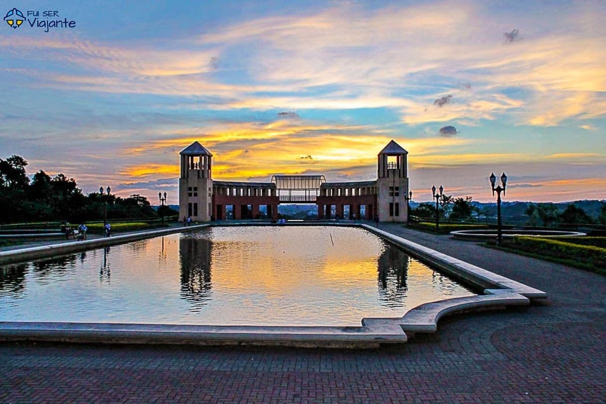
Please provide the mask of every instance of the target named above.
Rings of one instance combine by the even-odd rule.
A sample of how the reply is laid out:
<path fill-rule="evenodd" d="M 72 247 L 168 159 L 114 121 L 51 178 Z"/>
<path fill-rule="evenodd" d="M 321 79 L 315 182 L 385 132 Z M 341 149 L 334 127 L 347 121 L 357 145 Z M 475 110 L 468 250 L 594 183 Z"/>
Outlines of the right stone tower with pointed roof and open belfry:
<path fill-rule="evenodd" d="M 408 151 L 391 141 L 378 156 L 377 205 L 379 221 L 406 222 L 408 209 Z"/>

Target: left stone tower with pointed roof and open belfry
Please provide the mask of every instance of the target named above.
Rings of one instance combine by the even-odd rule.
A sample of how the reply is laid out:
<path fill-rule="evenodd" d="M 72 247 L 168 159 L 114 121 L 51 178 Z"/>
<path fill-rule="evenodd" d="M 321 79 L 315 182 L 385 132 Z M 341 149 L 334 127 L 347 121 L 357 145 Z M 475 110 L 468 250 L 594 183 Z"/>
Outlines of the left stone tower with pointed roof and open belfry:
<path fill-rule="evenodd" d="M 179 220 L 191 217 L 193 222 L 208 222 L 213 200 L 213 155 L 198 142 L 193 142 L 179 154 Z"/>

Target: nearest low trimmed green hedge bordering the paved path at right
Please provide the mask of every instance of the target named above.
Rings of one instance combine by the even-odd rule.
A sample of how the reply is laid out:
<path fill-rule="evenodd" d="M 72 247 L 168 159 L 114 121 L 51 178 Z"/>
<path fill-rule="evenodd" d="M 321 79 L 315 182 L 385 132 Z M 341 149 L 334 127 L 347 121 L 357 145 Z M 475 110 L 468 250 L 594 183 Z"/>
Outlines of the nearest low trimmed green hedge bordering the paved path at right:
<path fill-rule="evenodd" d="M 580 237 L 579 237 L 580 238 Z M 603 238 L 603 237 L 587 237 Z M 575 240 L 578 241 L 578 240 Z M 606 248 L 582 245 L 568 241 L 543 239 L 541 237 L 516 236 L 510 247 L 547 258 L 581 263 L 580 267 L 606 274 Z"/>

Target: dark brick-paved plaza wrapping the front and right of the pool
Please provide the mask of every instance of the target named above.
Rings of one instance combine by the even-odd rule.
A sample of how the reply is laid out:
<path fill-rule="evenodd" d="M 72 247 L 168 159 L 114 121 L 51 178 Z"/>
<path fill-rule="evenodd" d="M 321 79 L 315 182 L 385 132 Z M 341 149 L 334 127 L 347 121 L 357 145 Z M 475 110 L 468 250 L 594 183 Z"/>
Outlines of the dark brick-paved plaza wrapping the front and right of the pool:
<path fill-rule="evenodd" d="M 605 402 L 606 277 L 380 226 L 544 290 L 371 351 L 0 345 L 0 402 Z"/>

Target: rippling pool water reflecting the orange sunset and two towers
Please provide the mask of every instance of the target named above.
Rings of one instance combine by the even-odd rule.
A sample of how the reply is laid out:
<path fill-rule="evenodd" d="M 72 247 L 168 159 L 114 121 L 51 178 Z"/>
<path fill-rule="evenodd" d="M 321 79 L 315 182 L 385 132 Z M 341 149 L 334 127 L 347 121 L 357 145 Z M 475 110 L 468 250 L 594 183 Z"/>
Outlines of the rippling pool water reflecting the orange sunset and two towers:
<path fill-rule="evenodd" d="M 360 325 L 474 293 L 359 228 L 215 227 L 0 269 L 0 320 Z"/>

